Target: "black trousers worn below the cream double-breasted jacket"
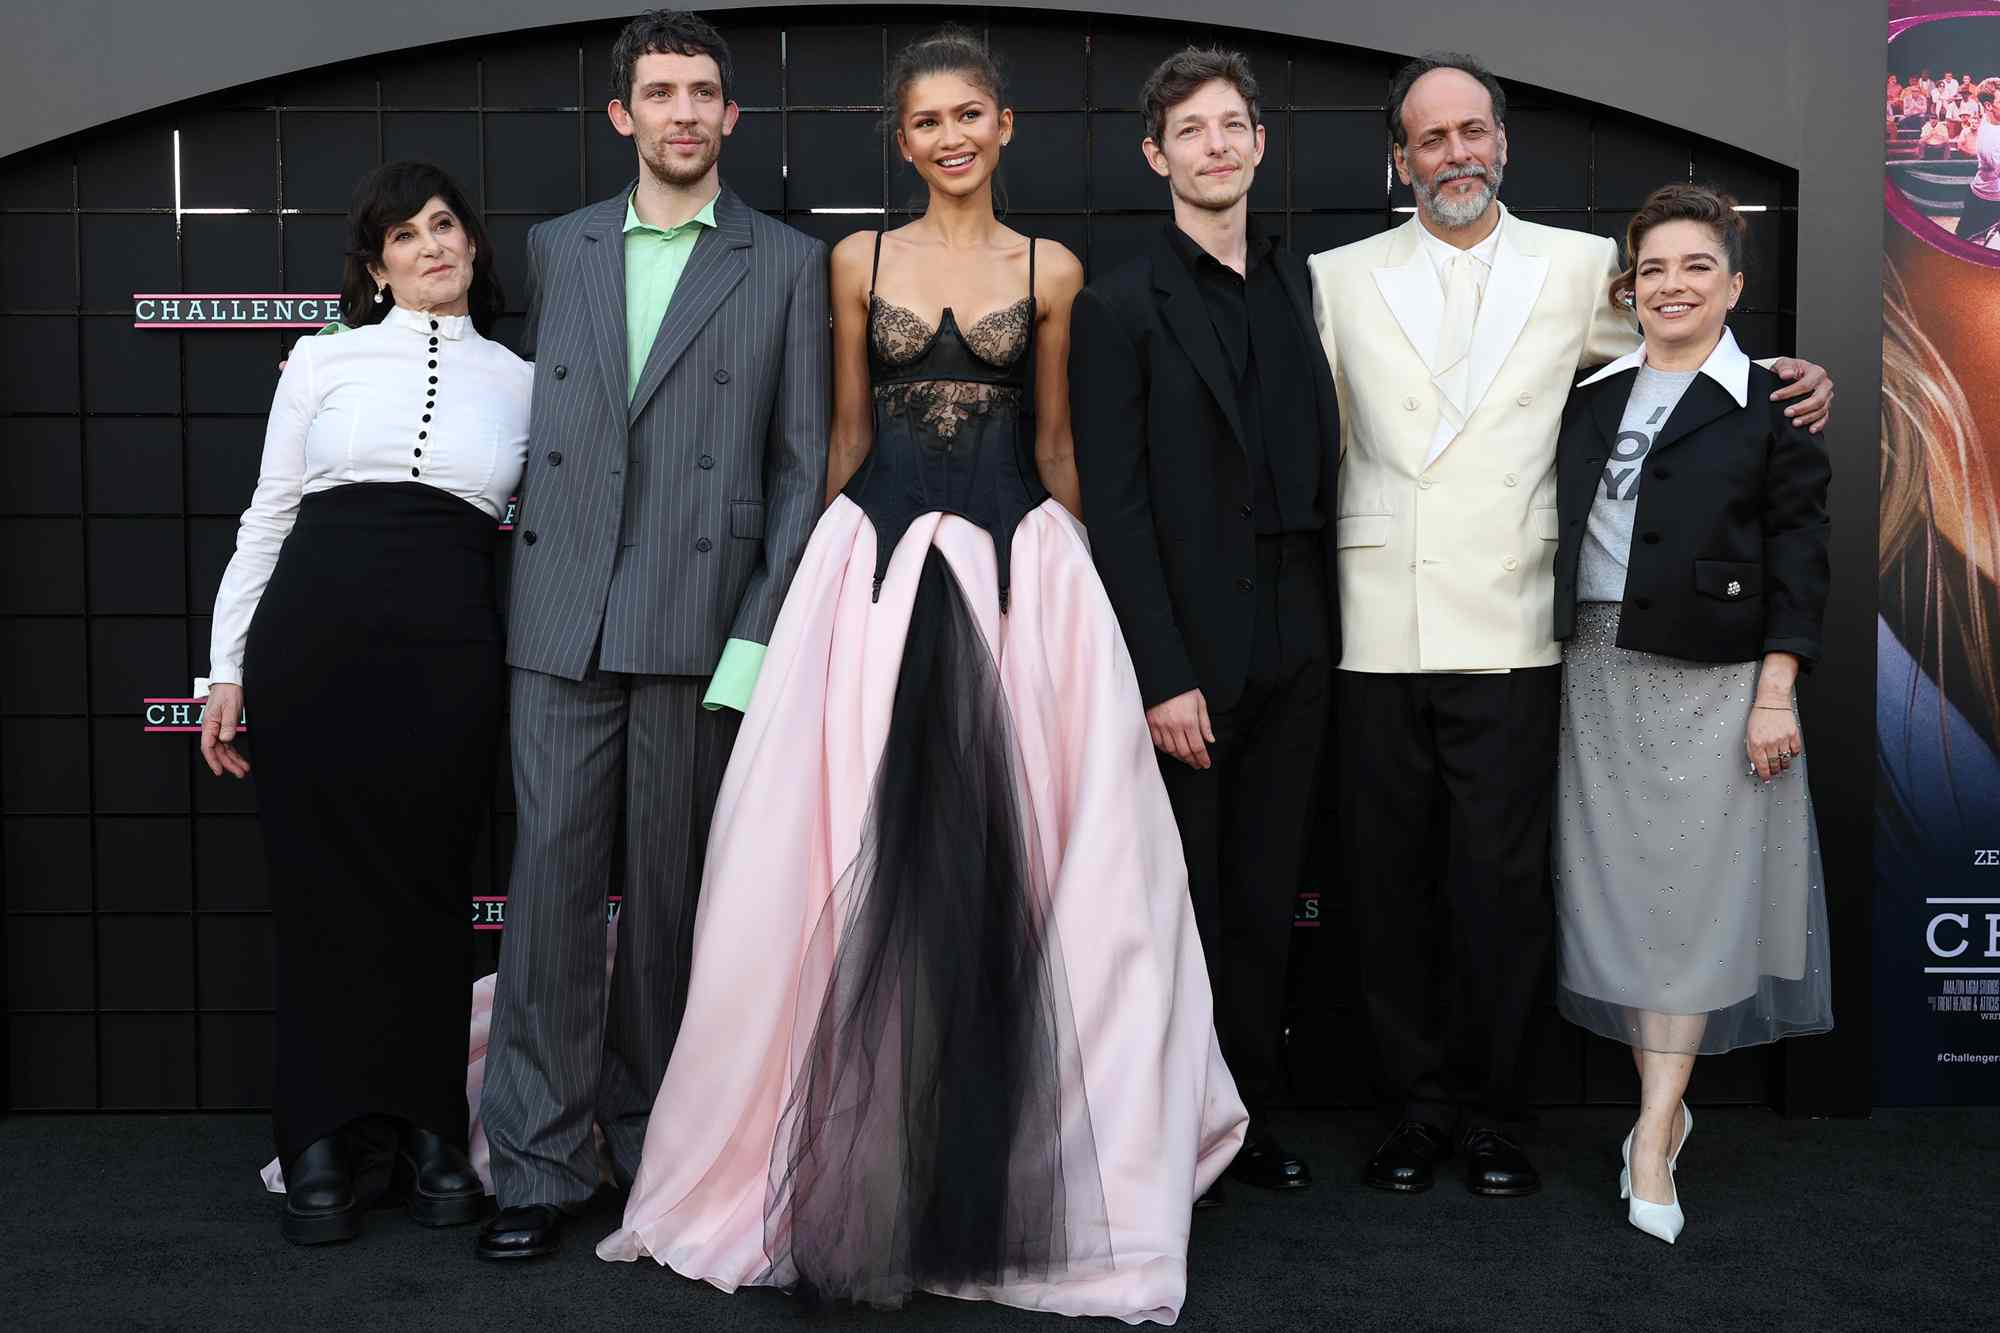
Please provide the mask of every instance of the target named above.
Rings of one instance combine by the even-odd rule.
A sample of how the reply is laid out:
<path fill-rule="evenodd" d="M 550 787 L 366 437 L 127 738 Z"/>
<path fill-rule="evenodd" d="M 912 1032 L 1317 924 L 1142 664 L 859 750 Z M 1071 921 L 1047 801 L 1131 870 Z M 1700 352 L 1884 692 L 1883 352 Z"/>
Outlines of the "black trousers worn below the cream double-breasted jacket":
<path fill-rule="evenodd" d="M 1554 935 L 1560 666 L 1336 673 L 1356 957 L 1392 1117 L 1504 1129 Z"/>

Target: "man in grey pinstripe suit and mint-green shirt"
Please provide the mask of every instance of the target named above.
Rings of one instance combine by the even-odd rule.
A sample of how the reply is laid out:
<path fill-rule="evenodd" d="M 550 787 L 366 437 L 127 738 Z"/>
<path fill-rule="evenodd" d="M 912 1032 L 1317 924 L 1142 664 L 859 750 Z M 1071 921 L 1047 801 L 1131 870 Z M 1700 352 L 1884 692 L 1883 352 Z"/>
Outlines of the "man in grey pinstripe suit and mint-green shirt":
<path fill-rule="evenodd" d="M 592 1125 L 620 1183 L 638 1169 L 716 789 L 826 484 L 826 246 L 720 182 L 728 46 L 690 14 L 642 14 L 612 74 L 638 182 L 528 232 L 488 1259 L 556 1249 L 598 1185 Z"/>

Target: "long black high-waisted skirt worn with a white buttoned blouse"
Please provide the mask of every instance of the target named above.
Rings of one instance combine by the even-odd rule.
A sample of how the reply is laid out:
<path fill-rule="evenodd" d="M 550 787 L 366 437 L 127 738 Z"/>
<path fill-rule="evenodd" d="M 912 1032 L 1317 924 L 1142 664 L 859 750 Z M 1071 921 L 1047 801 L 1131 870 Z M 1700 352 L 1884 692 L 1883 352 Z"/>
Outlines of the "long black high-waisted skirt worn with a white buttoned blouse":
<path fill-rule="evenodd" d="M 494 520 L 420 482 L 310 494 L 244 648 L 290 1165 L 394 1117 L 466 1147 L 470 899 L 500 733 Z"/>

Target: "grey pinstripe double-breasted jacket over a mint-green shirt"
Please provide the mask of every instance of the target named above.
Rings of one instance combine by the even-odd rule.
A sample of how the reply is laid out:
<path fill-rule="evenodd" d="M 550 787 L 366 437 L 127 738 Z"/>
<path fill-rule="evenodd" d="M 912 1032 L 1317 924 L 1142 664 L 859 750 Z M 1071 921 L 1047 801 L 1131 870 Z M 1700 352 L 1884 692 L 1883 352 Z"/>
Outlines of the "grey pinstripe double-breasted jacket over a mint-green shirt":
<path fill-rule="evenodd" d="M 728 186 L 626 394 L 618 196 L 528 232 L 510 666 L 708 675 L 768 642 L 826 488 L 826 244 Z M 602 642 L 600 642 L 602 630 Z"/>

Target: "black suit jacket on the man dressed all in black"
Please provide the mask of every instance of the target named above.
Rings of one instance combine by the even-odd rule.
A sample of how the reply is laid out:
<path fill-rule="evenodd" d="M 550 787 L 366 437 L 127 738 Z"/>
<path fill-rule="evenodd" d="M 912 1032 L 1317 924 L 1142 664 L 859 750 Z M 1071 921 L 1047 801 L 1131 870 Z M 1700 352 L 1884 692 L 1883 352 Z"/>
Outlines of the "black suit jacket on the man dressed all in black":
<path fill-rule="evenodd" d="M 1076 296 L 1070 314 L 1070 418 L 1090 554 L 1138 671 L 1156 703 L 1200 687 L 1210 709 L 1242 695 L 1256 606 L 1250 454 L 1236 384 L 1202 294 L 1170 232 Z M 1334 580 L 1334 486 L 1340 408 L 1312 326 L 1306 264 L 1272 250 L 1306 364 L 1318 434 L 1306 448 L 1272 442 L 1278 486 L 1318 480 L 1326 514 L 1328 602 Z M 1328 606 L 1334 660 L 1340 608 Z"/>

